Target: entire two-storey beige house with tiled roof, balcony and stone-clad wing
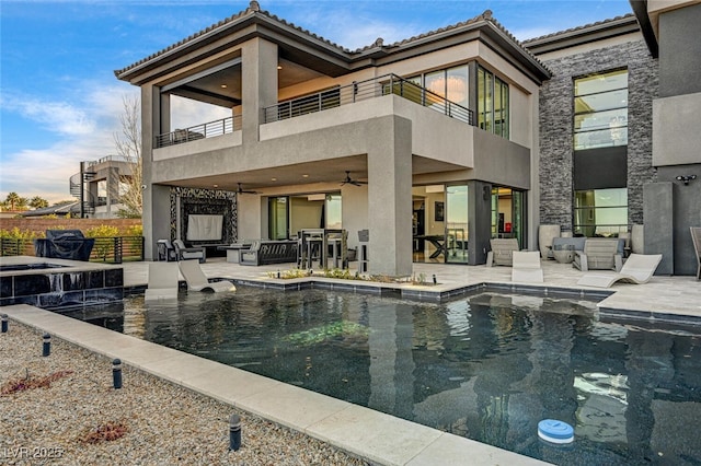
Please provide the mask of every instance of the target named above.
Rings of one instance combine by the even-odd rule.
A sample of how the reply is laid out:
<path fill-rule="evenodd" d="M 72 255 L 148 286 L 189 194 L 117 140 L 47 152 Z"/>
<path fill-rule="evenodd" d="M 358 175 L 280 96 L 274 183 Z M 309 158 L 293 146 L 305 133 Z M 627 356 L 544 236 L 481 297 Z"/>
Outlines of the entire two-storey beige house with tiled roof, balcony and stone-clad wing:
<path fill-rule="evenodd" d="M 590 235 L 644 223 L 655 249 L 658 65 L 639 21 L 520 44 L 485 11 L 348 50 L 252 1 L 115 71 L 141 89 L 146 256 L 186 240 L 193 215 L 220 218 L 222 243 L 343 228 L 354 247 L 367 230 L 369 271 L 394 276 L 412 260 L 484 264 L 492 237 L 532 249 L 550 222 Z M 599 93 L 627 102 L 599 107 Z M 230 116 L 173 128 L 174 98 Z"/>

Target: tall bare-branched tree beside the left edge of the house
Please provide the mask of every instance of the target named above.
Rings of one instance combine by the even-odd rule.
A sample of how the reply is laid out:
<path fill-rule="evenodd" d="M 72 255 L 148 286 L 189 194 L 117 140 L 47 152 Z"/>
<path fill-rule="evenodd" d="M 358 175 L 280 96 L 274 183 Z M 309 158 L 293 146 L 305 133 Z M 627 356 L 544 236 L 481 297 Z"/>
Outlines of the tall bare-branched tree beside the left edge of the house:
<path fill-rule="evenodd" d="M 141 119 L 139 118 L 139 100 L 123 96 L 124 113 L 119 115 L 122 130 L 114 133 L 117 155 L 131 163 L 131 174 L 122 174 L 120 202 L 124 206 L 117 212 L 123 219 L 138 219 L 141 217 L 143 201 L 141 197 L 142 163 L 141 163 Z"/>

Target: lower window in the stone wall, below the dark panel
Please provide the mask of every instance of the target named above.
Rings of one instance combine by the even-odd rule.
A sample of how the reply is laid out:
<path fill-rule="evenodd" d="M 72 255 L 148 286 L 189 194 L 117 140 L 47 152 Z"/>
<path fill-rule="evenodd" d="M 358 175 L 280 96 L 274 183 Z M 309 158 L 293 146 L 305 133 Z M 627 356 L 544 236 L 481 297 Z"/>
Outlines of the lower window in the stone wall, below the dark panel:
<path fill-rule="evenodd" d="M 575 233 L 585 236 L 616 236 L 627 231 L 627 188 L 575 191 Z"/>

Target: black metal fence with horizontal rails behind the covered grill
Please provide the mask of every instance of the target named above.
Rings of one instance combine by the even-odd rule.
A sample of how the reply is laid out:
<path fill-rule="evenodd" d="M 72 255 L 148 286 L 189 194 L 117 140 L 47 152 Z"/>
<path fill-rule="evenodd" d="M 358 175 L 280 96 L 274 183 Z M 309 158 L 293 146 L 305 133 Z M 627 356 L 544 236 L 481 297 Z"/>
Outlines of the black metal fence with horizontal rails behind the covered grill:
<path fill-rule="evenodd" d="M 34 256 L 33 240 L 0 238 L 0 257 Z M 95 237 L 91 263 L 122 264 L 143 260 L 143 236 Z"/>

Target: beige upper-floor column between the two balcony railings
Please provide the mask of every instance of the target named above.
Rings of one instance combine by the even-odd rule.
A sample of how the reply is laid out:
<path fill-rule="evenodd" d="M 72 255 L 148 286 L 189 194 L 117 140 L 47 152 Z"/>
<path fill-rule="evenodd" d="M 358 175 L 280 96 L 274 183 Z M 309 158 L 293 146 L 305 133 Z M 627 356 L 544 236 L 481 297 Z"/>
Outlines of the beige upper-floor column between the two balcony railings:
<path fill-rule="evenodd" d="M 257 142 L 263 107 L 277 103 L 277 45 L 261 38 L 241 47 L 243 143 Z"/>

